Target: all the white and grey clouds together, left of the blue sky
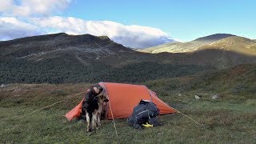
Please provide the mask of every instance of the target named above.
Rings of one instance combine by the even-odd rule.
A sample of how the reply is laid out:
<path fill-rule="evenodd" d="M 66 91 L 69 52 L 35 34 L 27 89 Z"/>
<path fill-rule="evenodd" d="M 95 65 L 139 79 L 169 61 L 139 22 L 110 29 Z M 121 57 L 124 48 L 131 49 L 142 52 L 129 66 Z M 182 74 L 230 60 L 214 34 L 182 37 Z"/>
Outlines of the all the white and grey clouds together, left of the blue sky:
<path fill-rule="evenodd" d="M 174 41 L 164 31 L 154 27 L 51 16 L 66 9 L 72 1 L 74 0 L 2 0 L 0 40 L 65 32 L 106 35 L 114 42 L 134 48 L 146 48 Z"/>

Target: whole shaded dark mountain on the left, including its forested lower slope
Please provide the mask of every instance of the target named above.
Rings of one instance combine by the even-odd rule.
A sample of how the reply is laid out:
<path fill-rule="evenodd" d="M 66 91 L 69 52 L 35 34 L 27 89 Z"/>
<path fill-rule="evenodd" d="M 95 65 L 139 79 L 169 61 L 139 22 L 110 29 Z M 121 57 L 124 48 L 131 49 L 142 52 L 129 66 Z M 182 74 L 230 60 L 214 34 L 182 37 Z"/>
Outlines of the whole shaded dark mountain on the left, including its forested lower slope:
<path fill-rule="evenodd" d="M 90 34 L 18 38 L 0 42 L 0 52 L 0 83 L 143 82 L 210 68 L 174 65 L 168 55 L 138 53 Z"/>

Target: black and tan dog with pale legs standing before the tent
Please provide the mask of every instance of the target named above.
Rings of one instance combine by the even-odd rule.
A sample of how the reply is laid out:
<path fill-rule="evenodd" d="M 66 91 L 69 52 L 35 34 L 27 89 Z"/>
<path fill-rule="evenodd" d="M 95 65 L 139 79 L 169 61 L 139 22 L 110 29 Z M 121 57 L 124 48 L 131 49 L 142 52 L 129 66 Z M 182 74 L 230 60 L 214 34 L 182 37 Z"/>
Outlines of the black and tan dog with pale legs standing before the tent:
<path fill-rule="evenodd" d="M 108 102 L 106 95 L 100 93 L 98 94 L 86 107 L 86 122 L 87 122 L 87 132 L 96 130 L 97 126 L 100 126 L 100 118 L 102 114 L 102 104 L 103 102 Z"/>

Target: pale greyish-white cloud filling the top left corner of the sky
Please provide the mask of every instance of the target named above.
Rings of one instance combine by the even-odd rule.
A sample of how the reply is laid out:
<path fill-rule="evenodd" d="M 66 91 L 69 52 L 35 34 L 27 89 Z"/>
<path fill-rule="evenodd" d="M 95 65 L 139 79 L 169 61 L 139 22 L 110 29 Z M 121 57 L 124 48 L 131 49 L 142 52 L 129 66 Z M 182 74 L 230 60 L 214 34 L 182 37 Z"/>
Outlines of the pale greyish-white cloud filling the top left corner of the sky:
<path fill-rule="evenodd" d="M 6 16 L 50 15 L 64 10 L 72 0 L 3 0 L 0 13 Z"/>

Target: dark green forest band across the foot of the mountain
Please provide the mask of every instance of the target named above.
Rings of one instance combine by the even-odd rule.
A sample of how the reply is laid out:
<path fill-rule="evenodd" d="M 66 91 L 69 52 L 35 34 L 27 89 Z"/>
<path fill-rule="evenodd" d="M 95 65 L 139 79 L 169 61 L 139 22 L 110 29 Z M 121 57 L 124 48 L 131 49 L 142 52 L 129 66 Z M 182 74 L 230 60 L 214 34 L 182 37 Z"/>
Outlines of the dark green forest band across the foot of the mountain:
<path fill-rule="evenodd" d="M 99 62 L 84 66 L 61 58 L 38 62 L 24 59 L 0 60 L 0 83 L 145 82 L 158 78 L 195 74 L 211 68 L 210 66 L 170 65 L 157 62 L 139 62 L 114 68 Z"/>

